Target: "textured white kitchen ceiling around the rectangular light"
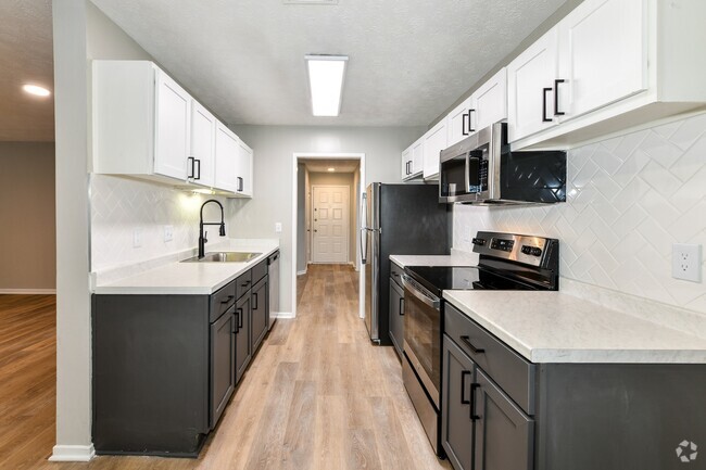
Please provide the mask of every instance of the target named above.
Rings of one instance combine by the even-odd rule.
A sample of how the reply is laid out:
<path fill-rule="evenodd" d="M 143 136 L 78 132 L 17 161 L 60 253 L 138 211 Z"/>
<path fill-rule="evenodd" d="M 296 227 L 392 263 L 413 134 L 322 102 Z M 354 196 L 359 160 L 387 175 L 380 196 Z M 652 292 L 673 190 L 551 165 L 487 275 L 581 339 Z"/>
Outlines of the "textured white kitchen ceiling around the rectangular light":
<path fill-rule="evenodd" d="M 5 0 L 7 1 L 7 0 Z M 564 0 L 92 0 L 228 124 L 425 126 Z M 304 55 L 350 56 L 313 117 Z"/>

